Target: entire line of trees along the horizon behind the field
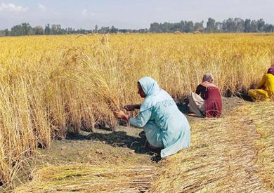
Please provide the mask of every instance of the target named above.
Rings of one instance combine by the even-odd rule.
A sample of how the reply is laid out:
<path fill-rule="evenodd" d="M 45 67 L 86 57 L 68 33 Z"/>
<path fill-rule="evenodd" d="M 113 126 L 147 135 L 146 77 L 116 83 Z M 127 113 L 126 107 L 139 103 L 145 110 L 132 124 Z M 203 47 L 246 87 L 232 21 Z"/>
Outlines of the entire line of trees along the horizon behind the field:
<path fill-rule="evenodd" d="M 154 22 L 150 25 L 150 29 L 118 29 L 112 27 L 100 27 L 98 25 L 94 29 L 73 29 L 72 27 L 61 28 L 60 25 L 46 25 L 45 28 L 41 26 L 32 27 L 29 23 L 22 23 L 11 27 L 11 30 L 0 30 L 0 36 L 26 36 L 26 35 L 49 35 L 49 34 L 90 34 L 90 33 L 171 33 L 171 32 L 274 32 L 274 25 L 268 24 L 259 20 L 242 20 L 241 18 L 228 18 L 223 22 L 216 22 L 214 19 L 207 20 L 207 26 L 204 27 L 204 21 L 181 21 L 181 22 Z"/>

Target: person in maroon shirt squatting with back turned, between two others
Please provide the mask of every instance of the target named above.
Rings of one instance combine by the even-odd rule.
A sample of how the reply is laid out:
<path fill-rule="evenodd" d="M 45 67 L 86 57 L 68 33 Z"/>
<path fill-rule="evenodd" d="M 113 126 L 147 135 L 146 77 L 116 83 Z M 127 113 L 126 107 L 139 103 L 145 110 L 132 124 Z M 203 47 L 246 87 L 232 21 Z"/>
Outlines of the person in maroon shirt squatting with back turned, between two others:
<path fill-rule="evenodd" d="M 202 84 L 188 96 L 190 113 L 197 117 L 221 117 L 222 99 L 212 74 L 204 74 Z"/>

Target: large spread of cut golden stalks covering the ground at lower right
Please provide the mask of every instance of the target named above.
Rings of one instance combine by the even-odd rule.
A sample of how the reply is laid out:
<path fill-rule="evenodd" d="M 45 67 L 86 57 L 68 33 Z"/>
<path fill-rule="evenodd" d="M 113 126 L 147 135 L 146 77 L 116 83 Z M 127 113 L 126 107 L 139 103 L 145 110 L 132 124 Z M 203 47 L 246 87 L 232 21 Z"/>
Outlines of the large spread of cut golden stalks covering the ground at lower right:
<path fill-rule="evenodd" d="M 244 105 L 192 128 L 192 147 L 167 158 L 150 192 L 270 192 L 274 105 Z"/>

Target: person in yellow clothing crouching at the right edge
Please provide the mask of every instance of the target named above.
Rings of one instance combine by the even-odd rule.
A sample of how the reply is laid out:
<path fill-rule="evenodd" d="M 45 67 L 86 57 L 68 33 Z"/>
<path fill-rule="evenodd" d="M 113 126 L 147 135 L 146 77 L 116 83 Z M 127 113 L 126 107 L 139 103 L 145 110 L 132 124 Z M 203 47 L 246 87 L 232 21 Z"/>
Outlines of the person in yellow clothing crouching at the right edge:
<path fill-rule="evenodd" d="M 274 67 L 268 69 L 257 88 L 250 89 L 248 94 L 254 101 L 274 100 Z"/>

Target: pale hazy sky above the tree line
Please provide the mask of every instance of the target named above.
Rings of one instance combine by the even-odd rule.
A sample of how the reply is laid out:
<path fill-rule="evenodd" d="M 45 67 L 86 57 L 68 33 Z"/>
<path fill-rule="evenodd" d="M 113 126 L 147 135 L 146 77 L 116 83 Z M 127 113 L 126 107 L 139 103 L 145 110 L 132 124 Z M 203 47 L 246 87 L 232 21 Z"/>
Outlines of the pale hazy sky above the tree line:
<path fill-rule="evenodd" d="M 263 18 L 274 24 L 274 0 L 0 0 L 0 29 L 22 22 L 91 29 L 149 28 L 152 22 Z"/>

